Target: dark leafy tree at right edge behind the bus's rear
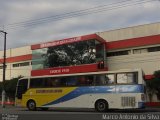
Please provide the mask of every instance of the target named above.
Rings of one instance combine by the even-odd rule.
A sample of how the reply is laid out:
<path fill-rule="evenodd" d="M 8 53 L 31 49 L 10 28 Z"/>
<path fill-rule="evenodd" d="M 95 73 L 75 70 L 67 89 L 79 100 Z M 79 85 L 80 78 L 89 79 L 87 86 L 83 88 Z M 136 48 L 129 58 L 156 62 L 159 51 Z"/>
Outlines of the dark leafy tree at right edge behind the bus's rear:
<path fill-rule="evenodd" d="M 152 101 L 153 94 L 156 94 L 160 100 L 160 70 L 155 71 L 153 79 L 146 81 L 146 84 L 150 101 Z"/>

